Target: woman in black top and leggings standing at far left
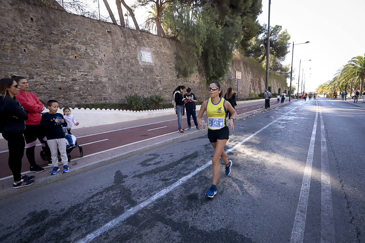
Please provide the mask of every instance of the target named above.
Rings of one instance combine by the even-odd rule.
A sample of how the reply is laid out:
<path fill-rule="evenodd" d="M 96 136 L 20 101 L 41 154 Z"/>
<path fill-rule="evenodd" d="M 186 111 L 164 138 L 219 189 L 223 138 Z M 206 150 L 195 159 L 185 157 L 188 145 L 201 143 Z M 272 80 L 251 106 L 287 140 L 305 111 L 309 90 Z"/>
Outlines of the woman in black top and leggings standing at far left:
<path fill-rule="evenodd" d="M 24 155 L 25 120 L 28 114 L 15 99 L 19 86 L 11 78 L 0 79 L 0 132 L 8 141 L 8 164 L 14 176 L 13 188 L 24 187 L 34 183 L 34 176 L 22 176 L 22 158 Z"/>

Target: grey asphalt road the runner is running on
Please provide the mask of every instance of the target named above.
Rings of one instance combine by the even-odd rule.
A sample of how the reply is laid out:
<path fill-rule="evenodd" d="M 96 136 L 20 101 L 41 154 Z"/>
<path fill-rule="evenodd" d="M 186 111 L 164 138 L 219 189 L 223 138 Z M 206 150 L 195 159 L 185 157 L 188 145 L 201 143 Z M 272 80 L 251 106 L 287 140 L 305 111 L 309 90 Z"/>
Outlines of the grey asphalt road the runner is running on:
<path fill-rule="evenodd" d="M 364 123 L 293 102 L 235 122 L 213 199 L 200 133 L 1 200 L 0 242 L 365 242 Z"/>

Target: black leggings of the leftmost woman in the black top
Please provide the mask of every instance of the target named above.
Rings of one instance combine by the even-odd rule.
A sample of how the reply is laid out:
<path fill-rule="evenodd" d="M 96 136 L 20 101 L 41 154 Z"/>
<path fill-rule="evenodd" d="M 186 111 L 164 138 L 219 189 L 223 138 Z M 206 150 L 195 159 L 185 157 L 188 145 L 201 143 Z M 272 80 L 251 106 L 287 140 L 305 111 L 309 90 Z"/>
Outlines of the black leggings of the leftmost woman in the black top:
<path fill-rule="evenodd" d="M 24 155 L 24 136 L 22 132 L 19 133 L 3 133 L 3 137 L 8 141 L 9 149 L 9 168 L 14 176 L 14 181 L 22 179 L 22 158 Z"/>

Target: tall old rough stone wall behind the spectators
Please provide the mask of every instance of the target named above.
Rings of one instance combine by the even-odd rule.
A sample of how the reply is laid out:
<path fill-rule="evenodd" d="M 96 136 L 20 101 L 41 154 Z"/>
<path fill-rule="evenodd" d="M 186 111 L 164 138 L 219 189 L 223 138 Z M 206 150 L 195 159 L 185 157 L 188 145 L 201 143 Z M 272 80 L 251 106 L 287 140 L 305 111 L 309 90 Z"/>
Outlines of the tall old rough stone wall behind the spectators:
<path fill-rule="evenodd" d="M 176 77 L 174 40 L 16 0 L 1 0 L 0 16 L 0 76 L 28 78 L 29 91 L 42 101 L 53 98 L 72 107 L 121 102 L 134 92 L 172 99 L 178 85 L 191 86 L 201 99 L 208 96 L 201 68 L 189 79 Z M 152 63 L 141 61 L 141 50 L 151 53 Z M 241 94 L 264 92 L 262 75 L 245 58 L 235 58 L 224 93 L 237 87 L 234 70 L 242 71 Z M 273 90 L 276 83 L 270 81 Z"/>

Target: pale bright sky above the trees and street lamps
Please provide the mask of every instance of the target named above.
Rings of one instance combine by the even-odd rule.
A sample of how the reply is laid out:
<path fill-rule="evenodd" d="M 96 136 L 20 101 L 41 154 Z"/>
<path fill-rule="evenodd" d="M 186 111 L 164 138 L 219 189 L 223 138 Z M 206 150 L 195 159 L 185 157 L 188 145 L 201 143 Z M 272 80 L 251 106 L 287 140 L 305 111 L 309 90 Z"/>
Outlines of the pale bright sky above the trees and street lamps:
<path fill-rule="evenodd" d="M 97 0 L 90 2 L 97 9 Z M 103 1 L 100 12 L 108 16 Z M 126 0 L 131 6 L 134 0 Z M 115 1 L 108 3 L 118 19 Z M 258 21 L 268 23 L 269 0 L 262 1 L 262 13 Z M 364 9 L 365 0 L 271 0 L 270 26 L 281 25 L 291 35 L 291 46 L 283 64 L 291 64 L 292 43 L 308 44 L 294 46 L 292 84 L 298 86 L 299 63 L 300 84 L 302 77 L 306 79 L 306 91 L 315 91 L 322 83 L 331 80 L 342 65 L 351 58 L 365 54 Z M 126 9 L 123 8 L 123 14 Z M 147 17 L 146 8 L 137 8 L 135 16 L 138 24 Z M 129 17 L 130 23 L 132 23 Z M 311 61 L 305 61 L 310 60 Z M 303 62 L 304 61 L 304 62 Z M 309 69 L 311 68 L 311 69 Z M 304 70 L 303 70 L 304 69 Z M 303 71 L 303 72 L 302 72 Z M 305 74 L 302 75 L 302 74 Z M 288 85 L 290 78 L 288 78 Z M 299 87 L 299 90 L 301 87 Z"/>

